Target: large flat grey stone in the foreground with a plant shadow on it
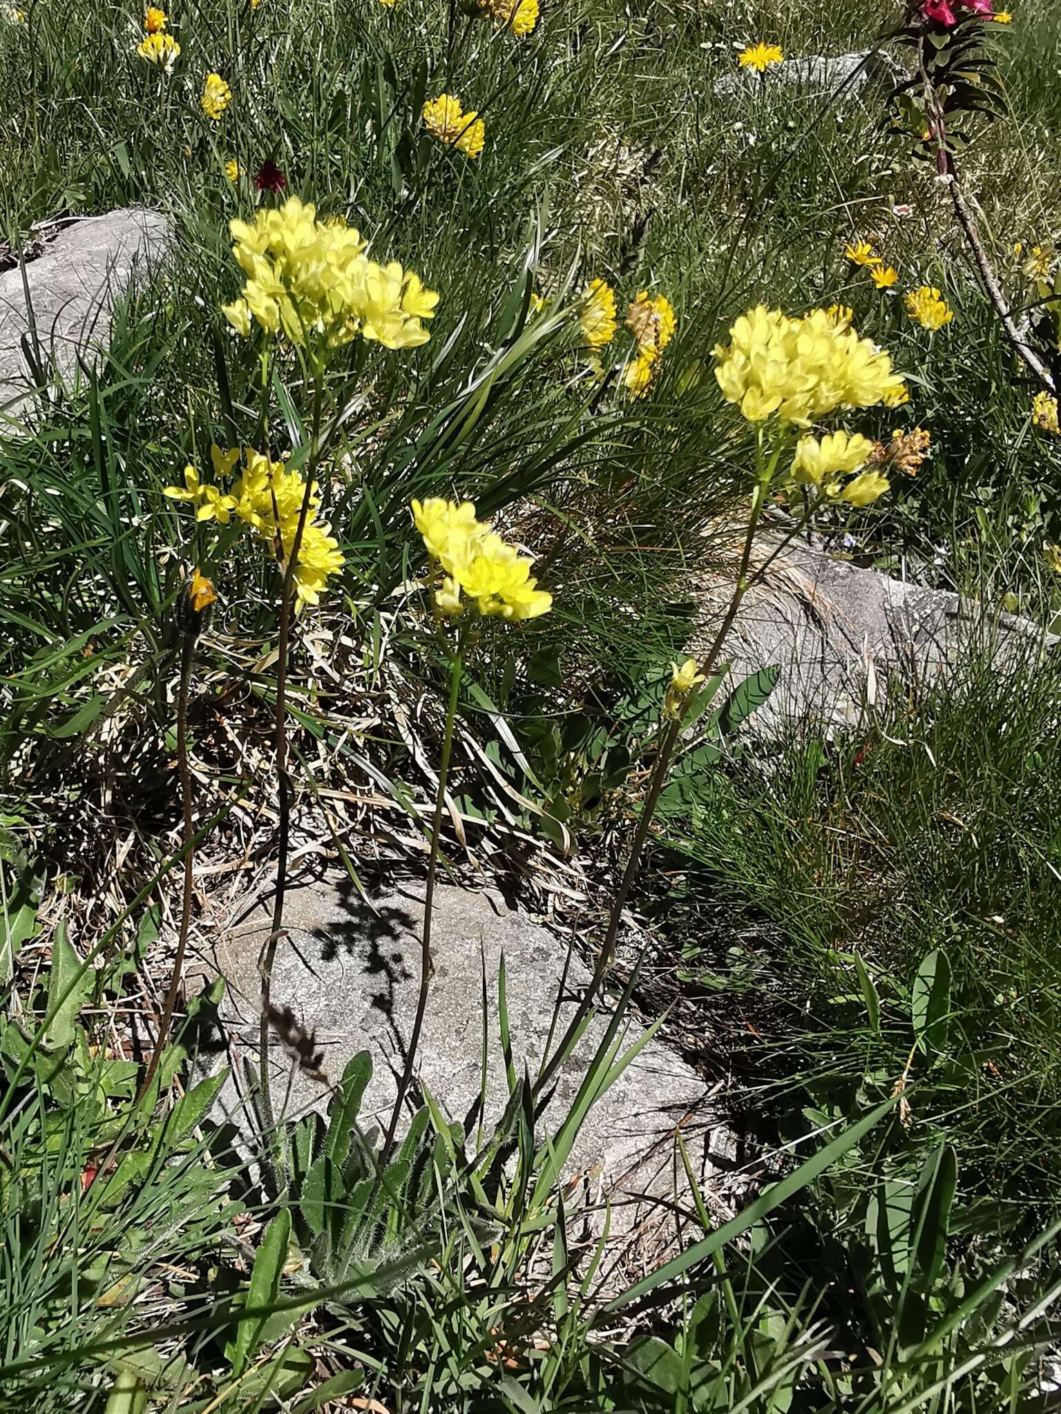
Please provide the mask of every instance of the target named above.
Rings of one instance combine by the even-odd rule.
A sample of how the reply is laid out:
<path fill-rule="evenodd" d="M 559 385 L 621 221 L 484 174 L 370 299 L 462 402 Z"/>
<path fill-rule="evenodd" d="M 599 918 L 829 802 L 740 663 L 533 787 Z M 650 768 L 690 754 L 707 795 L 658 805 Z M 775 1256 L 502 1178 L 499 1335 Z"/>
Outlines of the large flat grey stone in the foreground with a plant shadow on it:
<path fill-rule="evenodd" d="M 400 888 L 373 898 L 371 906 L 347 880 L 310 884 L 287 895 L 284 926 L 290 936 L 279 945 L 272 1000 L 279 1007 L 291 1007 L 304 1025 L 315 1029 L 331 1082 L 342 1075 L 355 1052 L 371 1052 L 373 1073 L 359 1121 L 365 1133 L 385 1131 L 406 1055 L 419 984 L 420 891 L 419 884 Z M 270 898 L 252 901 L 242 909 L 242 919 L 226 929 L 216 945 L 215 964 L 228 980 L 222 1019 L 233 1062 L 246 1055 L 257 1063 L 257 963 L 269 933 L 270 906 Z M 443 1111 L 465 1126 L 471 1154 L 480 1124 L 484 1007 L 482 1121 L 487 1135 L 509 1096 L 498 1022 L 502 956 L 516 1077 L 522 1076 L 525 1065 L 532 1077 L 536 1073 L 564 967 L 566 984 L 553 1046 L 590 973 L 577 957 L 567 957 L 553 933 L 508 909 L 492 891 L 477 894 L 440 885 L 431 950 L 436 970 L 414 1075 Z M 569 1113 L 607 1024 L 605 1015 L 594 1017 L 557 1072 L 556 1093 L 545 1111 L 539 1141 L 546 1131 L 555 1134 Z M 622 1032 L 628 1046 L 644 1035 L 644 1028 L 631 1019 L 624 1022 Z M 277 1111 L 284 1093 L 289 1118 L 307 1109 L 324 1110 L 327 1087 L 301 1075 L 291 1080 L 291 1065 L 277 1042 L 272 1075 Z M 219 1096 L 214 1118 L 222 1116 L 246 1130 L 243 1103 L 232 1079 Z M 590 1110 L 564 1176 L 587 1176 L 597 1189 L 625 1195 L 682 1192 L 685 1175 L 673 1138 L 678 1124 L 695 1169 L 706 1182 L 713 1171 L 712 1155 L 724 1158 L 724 1141 L 712 1138 L 716 1126 L 707 1113 L 705 1082 L 668 1046 L 652 1039 Z M 680 1182 L 676 1174 L 682 1174 Z"/>

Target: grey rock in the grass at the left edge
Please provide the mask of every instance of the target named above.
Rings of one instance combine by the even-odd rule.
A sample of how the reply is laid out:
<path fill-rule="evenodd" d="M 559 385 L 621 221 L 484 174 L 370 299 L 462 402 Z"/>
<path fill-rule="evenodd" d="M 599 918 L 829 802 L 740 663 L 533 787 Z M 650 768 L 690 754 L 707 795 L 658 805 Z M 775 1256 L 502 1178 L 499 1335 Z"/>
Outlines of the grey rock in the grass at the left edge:
<path fill-rule="evenodd" d="M 33 379 L 23 355 L 30 311 L 41 354 L 68 378 L 78 355 L 92 362 L 106 346 L 115 301 L 134 273 L 158 270 L 171 243 L 166 216 L 124 208 L 75 221 L 27 263 L 28 307 L 21 269 L 0 274 L 0 426 L 31 402 Z"/>

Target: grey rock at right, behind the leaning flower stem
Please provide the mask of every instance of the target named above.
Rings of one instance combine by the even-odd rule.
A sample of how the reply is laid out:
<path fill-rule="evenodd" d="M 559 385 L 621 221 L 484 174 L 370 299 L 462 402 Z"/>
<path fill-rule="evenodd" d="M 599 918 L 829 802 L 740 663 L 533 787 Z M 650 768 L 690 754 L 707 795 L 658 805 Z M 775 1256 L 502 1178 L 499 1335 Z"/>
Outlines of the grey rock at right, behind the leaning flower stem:
<path fill-rule="evenodd" d="M 731 580 L 703 587 L 690 653 L 710 645 L 731 588 Z M 1030 667 L 1055 643 L 1028 619 L 794 543 L 746 595 L 724 656 L 734 683 L 761 667 L 779 669 L 753 730 L 782 737 L 854 727 L 886 701 L 890 683 L 948 686 L 976 662 Z"/>

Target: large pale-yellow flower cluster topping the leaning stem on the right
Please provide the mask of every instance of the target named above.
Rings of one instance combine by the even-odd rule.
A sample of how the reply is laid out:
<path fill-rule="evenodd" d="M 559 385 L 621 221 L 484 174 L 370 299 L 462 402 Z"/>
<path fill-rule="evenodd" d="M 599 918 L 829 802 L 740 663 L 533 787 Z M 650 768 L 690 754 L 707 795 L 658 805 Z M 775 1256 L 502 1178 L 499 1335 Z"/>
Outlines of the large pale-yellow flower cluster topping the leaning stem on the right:
<path fill-rule="evenodd" d="M 777 413 L 806 427 L 837 407 L 895 407 L 907 400 L 891 358 L 826 310 L 789 318 L 758 305 L 714 348 L 723 396 L 751 423 Z"/>

